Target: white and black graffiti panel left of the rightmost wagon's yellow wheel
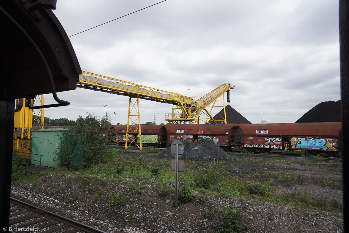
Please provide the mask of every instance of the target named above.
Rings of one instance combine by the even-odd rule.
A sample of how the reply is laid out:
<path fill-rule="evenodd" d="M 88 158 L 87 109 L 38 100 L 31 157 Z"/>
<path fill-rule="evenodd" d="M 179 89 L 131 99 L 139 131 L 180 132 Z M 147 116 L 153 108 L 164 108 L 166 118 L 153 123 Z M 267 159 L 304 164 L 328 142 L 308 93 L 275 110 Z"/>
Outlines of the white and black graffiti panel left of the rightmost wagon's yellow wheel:
<path fill-rule="evenodd" d="M 245 147 L 282 149 L 282 138 L 279 137 L 244 137 Z"/>

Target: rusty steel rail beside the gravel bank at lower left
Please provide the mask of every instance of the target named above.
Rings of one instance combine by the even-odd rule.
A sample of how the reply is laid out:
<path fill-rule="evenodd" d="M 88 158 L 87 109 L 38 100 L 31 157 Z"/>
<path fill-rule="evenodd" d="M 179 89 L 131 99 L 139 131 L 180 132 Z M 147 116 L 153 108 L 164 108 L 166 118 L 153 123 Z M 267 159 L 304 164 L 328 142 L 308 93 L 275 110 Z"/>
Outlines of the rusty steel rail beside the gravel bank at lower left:
<path fill-rule="evenodd" d="M 27 202 L 24 202 L 22 200 L 18 200 L 16 198 L 13 198 L 13 197 L 10 197 L 10 200 L 14 201 L 14 202 L 17 202 L 19 204 L 22 204 L 22 205 L 25 205 L 25 206 L 28 206 L 30 207 L 31 209 L 34 209 L 34 210 L 38 210 L 40 212 L 43 212 L 43 213 L 46 213 L 46 214 L 49 214 L 50 216 L 53 217 L 53 219 L 55 220 L 58 220 L 62 223 L 66 223 L 72 227 L 76 227 L 76 228 L 79 228 L 80 230 L 82 231 L 86 231 L 86 232 L 97 232 L 97 233 L 106 233 L 105 231 L 101 231 L 95 227 L 91 227 L 89 225 L 86 225 L 86 224 L 83 224 L 83 223 L 80 223 L 78 221 L 75 221 L 73 219 L 70 219 L 70 218 L 67 218 L 67 217 L 64 217 L 64 216 L 61 216 L 59 214 L 55 214 L 55 213 L 52 213 L 50 211 L 47 211 L 47 210 L 44 210 L 40 207 L 37 207 L 35 205 L 32 205 L 32 204 L 29 204 Z"/>

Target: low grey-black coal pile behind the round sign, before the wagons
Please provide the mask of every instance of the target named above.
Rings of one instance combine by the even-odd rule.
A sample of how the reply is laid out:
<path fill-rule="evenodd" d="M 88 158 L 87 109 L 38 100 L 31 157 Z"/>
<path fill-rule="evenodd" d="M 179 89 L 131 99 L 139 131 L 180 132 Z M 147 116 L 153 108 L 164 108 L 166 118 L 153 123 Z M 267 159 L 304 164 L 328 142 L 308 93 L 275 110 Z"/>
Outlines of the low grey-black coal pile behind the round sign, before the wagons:
<path fill-rule="evenodd" d="M 180 160 L 211 161 L 231 158 L 230 155 L 225 153 L 225 151 L 217 146 L 212 140 L 203 139 L 196 143 L 181 140 L 181 142 L 184 144 L 184 153 L 179 158 Z M 174 158 L 171 153 L 171 147 L 156 157 Z"/>

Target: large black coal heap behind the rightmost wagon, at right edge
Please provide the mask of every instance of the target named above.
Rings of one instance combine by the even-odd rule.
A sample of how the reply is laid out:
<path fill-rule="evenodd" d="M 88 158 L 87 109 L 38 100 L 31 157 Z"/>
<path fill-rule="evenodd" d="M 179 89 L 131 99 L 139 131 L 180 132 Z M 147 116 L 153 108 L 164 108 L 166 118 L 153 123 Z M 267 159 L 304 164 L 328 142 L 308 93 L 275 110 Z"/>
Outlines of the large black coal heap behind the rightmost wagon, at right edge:
<path fill-rule="evenodd" d="M 324 101 L 300 117 L 296 123 L 340 122 L 341 101 Z"/>

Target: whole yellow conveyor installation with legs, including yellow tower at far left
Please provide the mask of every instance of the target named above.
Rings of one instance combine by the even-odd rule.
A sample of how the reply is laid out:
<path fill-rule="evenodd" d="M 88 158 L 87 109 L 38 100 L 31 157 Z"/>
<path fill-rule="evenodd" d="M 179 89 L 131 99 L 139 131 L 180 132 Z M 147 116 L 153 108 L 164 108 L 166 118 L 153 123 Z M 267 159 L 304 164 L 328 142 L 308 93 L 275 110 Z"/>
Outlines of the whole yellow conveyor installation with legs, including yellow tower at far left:
<path fill-rule="evenodd" d="M 207 93 L 205 96 L 198 99 L 198 97 L 183 96 L 178 92 L 168 92 L 159 90 L 156 88 L 143 86 L 127 81 L 123 81 L 116 78 L 111 78 L 95 73 L 82 71 L 82 75 L 79 75 L 79 81 L 76 83 L 77 87 L 84 89 L 91 89 L 94 91 L 101 91 L 113 94 L 119 94 L 129 97 L 128 105 L 128 118 L 127 118 L 127 132 L 126 137 L 129 138 L 129 125 L 134 125 L 138 129 L 140 137 L 140 149 L 142 149 L 141 143 L 141 128 L 140 128 L 140 110 L 139 99 L 146 99 L 151 101 L 157 101 L 161 103 L 173 104 L 177 107 L 172 108 L 172 113 L 165 114 L 165 120 L 174 124 L 198 124 L 202 123 L 227 123 L 227 117 L 225 114 L 225 102 L 224 93 L 227 92 L 227 101 L 229 100 L 229 90 L 234 89 L 230 83 L 224 83 L 217 87 L 213 91 Z M 35 99 L 39 99 L 41 105 L 43 105 L 43 95 L 36 96 Z M 15 110 L 15 122 L 14 122 L 14 149 L 20 150 L 20 142 L 30 141 L 30 129 L 32 128 L 32 115 L 35 114 L 28 106 L 33 106 L 35 99 L 19 99 L 16 103 Z M 223 106 L 216 106 L 218 99 L 222 100 Z M 210 106 L 210 109 L 206 108 Z M 224 108 L 224 116 L 222 121 L 218 122 L 213 119 L 211 112 L 214 108 L 219 110 Z M 219 110 L 215 110 L 219 112 Z M 38 121 L 38 115 L 41 114 L 41 126 L 44 126 L 44 109 L 42 108 L 38 114 L 35 114 L 35 120 Z M 201 115 L 204 117 L 201 117 Z M 206 115 L 206 117 L 205 117 Z M 131 127 L 130 127 L 131 128 Z M 133 140 L 136 140 L 135 137 Z M 130 143 L 131 144 L 131 143 Z M 136 144 L 136 143 L 135 143 Z M 126 146 L 127 149 L 127 140 Z"/>

